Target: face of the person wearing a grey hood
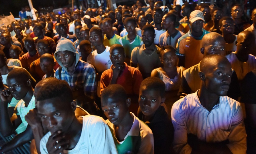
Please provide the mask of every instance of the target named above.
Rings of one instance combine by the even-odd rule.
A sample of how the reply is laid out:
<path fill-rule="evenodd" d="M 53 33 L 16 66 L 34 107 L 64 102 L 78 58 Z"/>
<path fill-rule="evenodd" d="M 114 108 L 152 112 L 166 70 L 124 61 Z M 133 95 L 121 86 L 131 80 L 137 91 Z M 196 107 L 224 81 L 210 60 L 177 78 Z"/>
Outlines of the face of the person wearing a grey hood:
<path fill-rule="evenodd" d="M 70 51 L 60 51 L 57 53 L 57 57 L 66 68 L 73 66 L 76 60 L 75 53 Z"/>

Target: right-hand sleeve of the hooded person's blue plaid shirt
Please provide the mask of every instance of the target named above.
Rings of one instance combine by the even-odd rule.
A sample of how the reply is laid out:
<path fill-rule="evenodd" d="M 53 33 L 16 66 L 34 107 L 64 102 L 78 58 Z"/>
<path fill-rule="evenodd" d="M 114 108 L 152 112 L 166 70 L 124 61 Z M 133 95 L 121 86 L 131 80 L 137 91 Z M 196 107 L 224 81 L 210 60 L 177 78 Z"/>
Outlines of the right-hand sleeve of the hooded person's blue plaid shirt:
<path fill-rule="evenodd" d="M 94 100 L 97 90 L 96 73 L 93 67 L 86 71 L 86 81 L 84 84 L 84 94 Z"/>

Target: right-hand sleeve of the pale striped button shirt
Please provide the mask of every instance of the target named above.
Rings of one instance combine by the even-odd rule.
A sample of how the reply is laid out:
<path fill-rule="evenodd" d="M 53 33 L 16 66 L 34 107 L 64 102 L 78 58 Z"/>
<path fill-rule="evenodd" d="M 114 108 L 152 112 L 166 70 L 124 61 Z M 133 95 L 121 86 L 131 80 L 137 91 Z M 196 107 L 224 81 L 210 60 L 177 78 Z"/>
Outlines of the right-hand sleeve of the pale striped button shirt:
<path fill-rule="evenodd" d="M 243 111 L 240 103 L 233 106 L 235 111 L 230 128 L 230 134 L 228 137 L 229 144 L 227 147 L 233 154 L 246 153 L 246 132 L 244 127 Z"/>

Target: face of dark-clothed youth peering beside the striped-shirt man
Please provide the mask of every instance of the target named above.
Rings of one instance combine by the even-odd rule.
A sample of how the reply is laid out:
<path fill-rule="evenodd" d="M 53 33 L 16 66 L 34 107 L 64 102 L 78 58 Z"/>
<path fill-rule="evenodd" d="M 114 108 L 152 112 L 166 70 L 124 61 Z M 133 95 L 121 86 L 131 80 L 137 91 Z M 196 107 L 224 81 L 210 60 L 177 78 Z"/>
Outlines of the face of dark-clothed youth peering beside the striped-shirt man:
<path fill-rule="evenodd" d="M 139 105 L 145 116 L 154 116 L 160 104 L 165 101 L 161 98 L 160 92 L 154 89 L 140 88 Z"/>

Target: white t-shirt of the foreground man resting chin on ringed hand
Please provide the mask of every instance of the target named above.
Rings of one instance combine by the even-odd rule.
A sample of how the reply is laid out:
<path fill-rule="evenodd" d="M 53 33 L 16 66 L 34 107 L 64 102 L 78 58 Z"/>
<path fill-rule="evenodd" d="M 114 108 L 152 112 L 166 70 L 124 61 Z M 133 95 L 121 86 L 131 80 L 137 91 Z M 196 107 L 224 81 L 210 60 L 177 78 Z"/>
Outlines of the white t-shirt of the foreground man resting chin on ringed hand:
<path fill-rule="evenodd" d="M 105 120 L 99 116 L 83 117 L 83 128 L 77 145 L 64 154 L 117 154 L 111 131 Z M 48 132 L 40 141 L 41 154 L 48 154 L 46 143 L 51 133 Z"/>

